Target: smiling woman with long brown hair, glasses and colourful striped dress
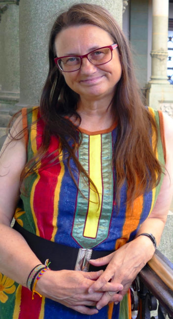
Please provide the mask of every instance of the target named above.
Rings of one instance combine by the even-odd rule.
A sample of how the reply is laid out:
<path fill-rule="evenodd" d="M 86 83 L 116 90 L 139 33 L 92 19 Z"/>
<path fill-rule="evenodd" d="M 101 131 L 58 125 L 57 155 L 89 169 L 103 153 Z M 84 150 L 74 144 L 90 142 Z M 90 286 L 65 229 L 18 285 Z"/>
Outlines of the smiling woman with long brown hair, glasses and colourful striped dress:
<path fill-rule="evenodd" d="M 172 120 L 142 104 L 127 41 L 100 6 L 57 17 L 49 64 L 40 107 L 22 110 L 1 154 L 0 319 L 129 318 L 173 193 Z M 81 247 L 101 256 L 89 270 L 106 270 L 74 271 Z"/>

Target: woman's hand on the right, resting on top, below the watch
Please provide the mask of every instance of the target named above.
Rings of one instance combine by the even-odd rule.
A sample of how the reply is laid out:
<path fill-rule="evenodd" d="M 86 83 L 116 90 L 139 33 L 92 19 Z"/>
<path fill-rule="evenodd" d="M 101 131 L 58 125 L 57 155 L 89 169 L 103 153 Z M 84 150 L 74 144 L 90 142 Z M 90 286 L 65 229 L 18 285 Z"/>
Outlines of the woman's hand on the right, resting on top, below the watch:
<path fill-rule="evenodd" d="M 108 265 L 104 273 L 88 289 L 88 292 L 105 291 L 96 304 L 98 310 L 110 302 L 120 302 L 136 275 L 153 256 L 155 249 L 151 240 L 143 237 L 145 236 L 137 237 L 106 257 L 90 260 L 90 264 L 94 266 Z M 119 294 L 115 293 L 117 283 L 124 286 Z"/>

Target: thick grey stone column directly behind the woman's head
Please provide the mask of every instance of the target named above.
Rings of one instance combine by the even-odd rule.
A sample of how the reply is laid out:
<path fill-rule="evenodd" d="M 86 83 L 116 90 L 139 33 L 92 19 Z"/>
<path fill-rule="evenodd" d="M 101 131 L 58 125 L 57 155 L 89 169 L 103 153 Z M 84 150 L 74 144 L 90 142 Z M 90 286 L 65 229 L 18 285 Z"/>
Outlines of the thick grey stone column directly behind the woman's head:
<path fill-rule="evenodd" d="M 106 7 L 122 25 L 122 0 L 82 0 Z M 46 79 L 49 30 L 57 13 L 76 0 L 22 0 L 19 8 L 20 100 L 16 108 L 38 105 Z"/>

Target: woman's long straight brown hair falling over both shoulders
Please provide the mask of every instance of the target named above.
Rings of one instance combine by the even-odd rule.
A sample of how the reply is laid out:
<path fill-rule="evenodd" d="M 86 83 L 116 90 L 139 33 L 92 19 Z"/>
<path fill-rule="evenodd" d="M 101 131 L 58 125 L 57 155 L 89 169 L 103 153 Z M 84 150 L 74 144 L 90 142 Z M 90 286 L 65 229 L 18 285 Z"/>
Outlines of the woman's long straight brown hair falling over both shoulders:
<path fill-rule="evenodd" d="M 45 128 L 39 156 L 42 158 L 46 156 L 51 135 L 59 137 L 62 149 L 67 150 L 69 154 L 69 171 L 71 172 L 69 161 L 70 158 L 73 158 L 79 172 L 84 175 L 87 182 L 91 182 L 93 185 L 75 155 L 82 140 L 79 141 L 79 130 L 65 117 L 66 115 L 75 115 L 81 121 L 77 112 L 80 96 L 67 86 L 64 77 L 54 63 L 54 42 L 58 33 L 70 26 L 84 24 L 92 24 L 102 28 L 111 35 L 114 43 L 118 44 L 122 76 L 116 86 L 112 101 L 112 108 L 118 120 L 118 139 L 114 145 L 112 163 L 117 174 L 116 200 L 118 203 L 120 202 L 120 190 L 127 179 L 128 200 L 132 203 L 144 191 L 152 189 L 161 178 L 162 167 L 150 142 L 151 127 L 155 131 L 156 137 L 158 136 L 157 127 L 141 101 L 127 40 L 111 14 L 101 6 L 87 3 L 75 4 L 68 11 L 61 13 L 52 27 L 49 40 L 49 71 L 40 101 Z M 72 147 L 67 142 L 67 132 L 73 141 Z M 27 172 L 32 173 L 35 170 L 36 164 L 33 163 L 36 163 L 36 157 L 26 165 Z M 28 174 L 26 168 L 21 175 L 22 179 Z M 72 172 L 71 176 L 73 178 Z"/>

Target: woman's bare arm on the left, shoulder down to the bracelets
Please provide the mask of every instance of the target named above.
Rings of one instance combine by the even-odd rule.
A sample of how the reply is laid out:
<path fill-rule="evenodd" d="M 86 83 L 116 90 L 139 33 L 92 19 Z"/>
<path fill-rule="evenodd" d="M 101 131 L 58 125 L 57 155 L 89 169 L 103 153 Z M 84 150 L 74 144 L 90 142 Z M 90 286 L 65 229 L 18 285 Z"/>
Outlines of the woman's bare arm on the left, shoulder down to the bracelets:
<path fill-rule="evenodd" d="M 11 133 L 15 136 L 21 130 L 19 117 Z M 24 238 L 10 228 L 19 199 L 20 175 L 26 163 L 24 138 L 11 141 L 7 137 L 0 155 L 0 272 L 26 286 L 28 273 L 40 261 Z"/>

